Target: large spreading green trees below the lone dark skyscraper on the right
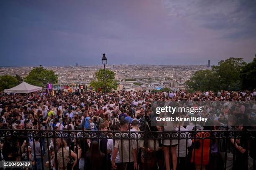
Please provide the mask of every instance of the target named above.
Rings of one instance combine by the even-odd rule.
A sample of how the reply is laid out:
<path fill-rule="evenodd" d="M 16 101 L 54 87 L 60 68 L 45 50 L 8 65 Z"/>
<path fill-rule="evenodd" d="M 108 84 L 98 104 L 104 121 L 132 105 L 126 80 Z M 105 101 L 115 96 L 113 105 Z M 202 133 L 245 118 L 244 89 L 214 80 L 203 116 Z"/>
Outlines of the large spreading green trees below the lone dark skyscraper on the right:
<path fill-rule="evenodd" d="M 186 85 L 192 90 L 239 90 L 241 87 L 240 70 L 246 65 L 243 58 L 221 60 L 212 70 L 195 72 Z"/>

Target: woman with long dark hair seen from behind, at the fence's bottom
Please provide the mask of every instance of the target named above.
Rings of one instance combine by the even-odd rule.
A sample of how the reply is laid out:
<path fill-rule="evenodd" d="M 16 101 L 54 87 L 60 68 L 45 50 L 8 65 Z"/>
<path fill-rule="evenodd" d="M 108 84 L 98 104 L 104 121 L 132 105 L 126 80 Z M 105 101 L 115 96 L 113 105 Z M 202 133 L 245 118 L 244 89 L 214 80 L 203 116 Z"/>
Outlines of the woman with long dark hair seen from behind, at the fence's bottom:
<path fill-rule="evenodd" d="M 105 169 L 105 154 L 100 151 L 97 141 L 92 141 L 89 151 L 85 155 L 86 170 L 103 170 Z"/>

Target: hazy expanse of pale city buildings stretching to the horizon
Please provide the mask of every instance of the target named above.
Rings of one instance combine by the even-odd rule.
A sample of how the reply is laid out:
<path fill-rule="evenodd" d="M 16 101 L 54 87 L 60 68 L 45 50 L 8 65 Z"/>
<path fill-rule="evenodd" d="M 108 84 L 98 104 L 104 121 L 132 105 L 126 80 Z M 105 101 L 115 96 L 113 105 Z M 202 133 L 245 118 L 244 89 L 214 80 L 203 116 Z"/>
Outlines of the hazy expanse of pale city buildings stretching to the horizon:
<path fill-rule="evenodd" d="M 210 63 L 209 63 L 210 64 Z M 198 70 L 211 69 L 210 65 L 106 65 L 115 73 L 119 86 L 117 90 L 153 90 L 168 87 L 173 91 L 185 89 L 185 81 Z M 95 79 L 95 71 L 102 65 L 66 67 L 45 67 L 58 75 L 58 84 L 89 85 Z M 0 67 L 0 75 L 20 75 L 24 78 L 33 67 Z"/>

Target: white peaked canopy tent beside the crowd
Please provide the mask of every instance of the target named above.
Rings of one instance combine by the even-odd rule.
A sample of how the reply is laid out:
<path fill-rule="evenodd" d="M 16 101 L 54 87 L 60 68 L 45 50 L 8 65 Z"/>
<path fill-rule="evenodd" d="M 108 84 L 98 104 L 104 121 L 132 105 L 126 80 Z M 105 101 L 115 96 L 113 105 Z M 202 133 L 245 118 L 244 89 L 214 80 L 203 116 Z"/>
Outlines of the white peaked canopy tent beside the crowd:
<path fill-rule="evenodd" d="M 30 85 L 26 82 L 22 82 L 13 88 L 5 89 L 4 92 L 29 93 L 29 92 L 40 91 L 42 89 L 43 89 L 42 87 L 38 87 L 38 86 Z"/>

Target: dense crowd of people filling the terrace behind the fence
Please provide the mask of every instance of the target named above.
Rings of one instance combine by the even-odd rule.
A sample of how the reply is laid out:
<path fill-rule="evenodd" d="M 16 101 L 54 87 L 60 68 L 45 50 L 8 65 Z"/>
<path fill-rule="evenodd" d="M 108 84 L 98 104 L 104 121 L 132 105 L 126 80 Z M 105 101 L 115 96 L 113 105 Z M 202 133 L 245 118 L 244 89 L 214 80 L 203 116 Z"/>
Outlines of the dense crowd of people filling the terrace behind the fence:
<path fill-rule="evenodd" d="M 52 96 L 47 92 L 30 94 L 1 94 L 0 129 L 1 160 L 30 161 L 32 168 L 41 170 L 219 170 L 253 169 L 256 160 L 255 138 L 230 139 L 161 139 L 164 131 L 253 130 L 256 126 L 256 90 L 243 92 L 206 91 L 101 92 L 60 91 Z M 243 105 L 223 105 L 216 110 L 209 106 L 197 116 L 208 117 L 211 126 L 181 121 L 171 126 L 151 125 L 154 119 L 152 102 L 171 101 L 250 101 Z M 230 102 L 231 103 L 231 102 Z M 254 104 L 253 104 L 254 103 Z M 190 113 L 183 113 L 189 117 Z M 250 125 L 234 122 L 240 118 Z M 108 138 L 11 138 L 3 137 L 8 130 L 80 130 L 125 131 L 136 134 L 136 140 Z M 22 131 L 24 130 L 24 131 Z M 144 141 L 141 131 L 159 131 L 156 140 Z M 188 133 L 188 132 L 187 132 Z M 205 136 L 207 131 L 200 133 Z M 92 133 L 93 134 L 93 133 Z M 247 133 L 244 133 L 246 135 Z M 256 135 L 256 133 L 253 133 Z M 18 135 L 17 135 L 18 136 Z M 254 136 L 255 137 L 255 136 Z M 166 139 L 166 138 L 165 138 Z M 147 146 L 145 146 L 147 143 Z M 48 145 L 47 145 L 48 144 Z M 49 160 L 48 158 L 49 157 Z M 45 160 L 48 160 L 47 163 Z M 6 168 L 8 169 L 8 168 Z"/>

